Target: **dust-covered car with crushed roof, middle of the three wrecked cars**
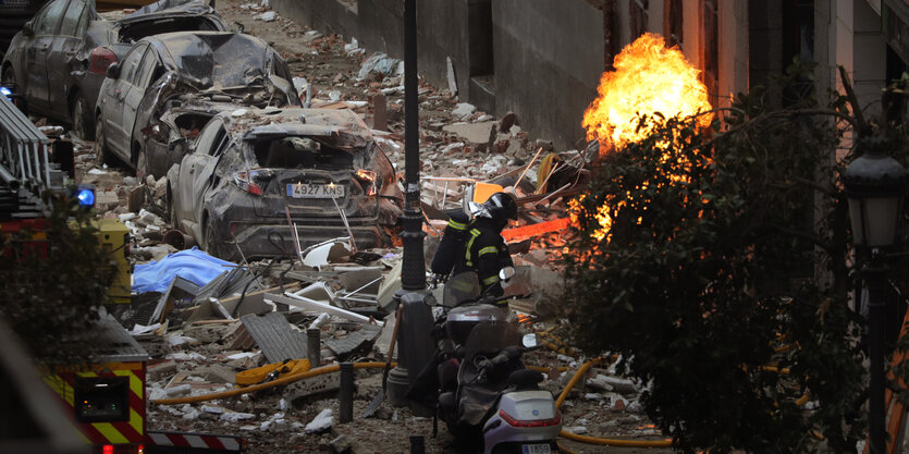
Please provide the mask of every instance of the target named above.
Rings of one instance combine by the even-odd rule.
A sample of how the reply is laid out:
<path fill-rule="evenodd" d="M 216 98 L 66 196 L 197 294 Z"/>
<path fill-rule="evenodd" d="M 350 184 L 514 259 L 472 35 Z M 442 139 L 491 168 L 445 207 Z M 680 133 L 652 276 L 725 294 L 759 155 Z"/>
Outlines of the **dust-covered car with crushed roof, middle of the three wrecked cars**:
<path fill-rule="evenodd" d="M 287 63 L 266 41 L 230 32 L 143 38 L 111 64 L 96 107 L 98 157 L 163 176 L 216 113 L 299 106 Z"/>

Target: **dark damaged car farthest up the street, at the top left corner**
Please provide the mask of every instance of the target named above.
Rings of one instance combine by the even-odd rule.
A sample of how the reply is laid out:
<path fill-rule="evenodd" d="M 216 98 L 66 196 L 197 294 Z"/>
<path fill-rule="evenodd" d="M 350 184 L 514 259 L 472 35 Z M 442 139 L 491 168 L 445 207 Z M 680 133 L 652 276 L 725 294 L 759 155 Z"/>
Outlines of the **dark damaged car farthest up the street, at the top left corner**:
<path fill-rule="evenodd" d="M 53 0 L 13 38 L 0 63 L 0 81 L 14 85 L 29 113 L 71 125 L 90 139 L 106 71 L 134 41 L 167 32 L 228 29 L 199 0 L 161 0 L 115 21 L 99 14 L 93 0 Z"/>

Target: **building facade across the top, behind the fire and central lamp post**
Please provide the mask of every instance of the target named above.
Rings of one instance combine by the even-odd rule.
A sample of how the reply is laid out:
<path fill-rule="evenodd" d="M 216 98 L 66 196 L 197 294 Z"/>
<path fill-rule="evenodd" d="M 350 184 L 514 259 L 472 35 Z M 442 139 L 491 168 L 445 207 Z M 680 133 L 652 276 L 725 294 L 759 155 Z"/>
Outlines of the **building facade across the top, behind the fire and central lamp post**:
<path fill-rule="evenodd" d="M 370 51 L 404 53 L 401 2 L 273 0 L 323 33 L 356 37 Z M 666 37 L 703 74 L 714 107 L 781 73 L 798 57 L 816 62 L 818 93 L 852 77 L 860 105 L 877 100 L 909 59 L 909 8 L 898 0 L 428 0 L 418 11 L 418 66 L 426 79 L 521 127 L 578 147 L 580 113 L 603 71 L 644 33 Z M 875 109 L 870 108 L 873 114 Z"/>

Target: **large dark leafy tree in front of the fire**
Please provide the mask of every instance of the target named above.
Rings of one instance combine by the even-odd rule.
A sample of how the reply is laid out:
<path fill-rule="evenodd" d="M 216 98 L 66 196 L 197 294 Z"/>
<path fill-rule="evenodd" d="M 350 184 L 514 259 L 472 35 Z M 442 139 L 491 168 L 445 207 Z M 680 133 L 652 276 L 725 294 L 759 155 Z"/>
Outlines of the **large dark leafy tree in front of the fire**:
<path fill-rule="evenodd" d="M 821 107 L 800 81 L 740 95 L 711 131 L 642 118 L 653 134 L 601 159 L 574 212 L 575 342 L 621 353 L 685 452 L 812 452 L 812 433 L 853 452 L 862 438 L 861 323 L 831 159 L 849 119 L 842 98 Z M 595 235 L 604 211 L 609 235 Z"/>

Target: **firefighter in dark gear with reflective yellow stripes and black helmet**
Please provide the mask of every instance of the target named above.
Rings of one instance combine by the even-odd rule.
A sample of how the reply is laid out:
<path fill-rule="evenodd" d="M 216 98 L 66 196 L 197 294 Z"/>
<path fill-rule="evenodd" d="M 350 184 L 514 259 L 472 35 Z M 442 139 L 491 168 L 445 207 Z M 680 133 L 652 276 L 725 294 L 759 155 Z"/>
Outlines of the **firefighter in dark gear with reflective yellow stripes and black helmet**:
<path fill-rule="evenodd" d="M 499 271 L 514 263 L 502 230 L 509 220 L 517 220 L 517 204 L 511 195 L 495 193 L 482 205 L 472 204 L 471 210 L 474 222 L 468 226 L 460 250 L 455 256 L 453 273 L 474 271 L 483 296 L 504 295 Z"/>

